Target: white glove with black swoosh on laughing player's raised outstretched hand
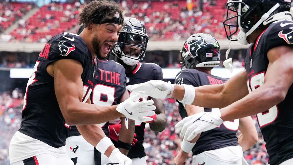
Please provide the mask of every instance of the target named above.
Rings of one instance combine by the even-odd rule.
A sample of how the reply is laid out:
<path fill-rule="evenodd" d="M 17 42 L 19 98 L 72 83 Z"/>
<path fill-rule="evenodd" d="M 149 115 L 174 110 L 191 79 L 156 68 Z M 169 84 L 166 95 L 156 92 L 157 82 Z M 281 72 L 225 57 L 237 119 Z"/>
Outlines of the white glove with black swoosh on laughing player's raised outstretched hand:
<path fill-rule="evenodd" d="M 153 118 L 147 116 L 153 116 L 155 114 L 154 110 L 156 106 L 153 105 L 154 101 L 147 100 L 139 102 L 139 97 L 139 94 L 129 97 L 117 106 L 116 111 L 122 113 L 128 119 L 138 120 L 140 122 L 153 120 Z"/>

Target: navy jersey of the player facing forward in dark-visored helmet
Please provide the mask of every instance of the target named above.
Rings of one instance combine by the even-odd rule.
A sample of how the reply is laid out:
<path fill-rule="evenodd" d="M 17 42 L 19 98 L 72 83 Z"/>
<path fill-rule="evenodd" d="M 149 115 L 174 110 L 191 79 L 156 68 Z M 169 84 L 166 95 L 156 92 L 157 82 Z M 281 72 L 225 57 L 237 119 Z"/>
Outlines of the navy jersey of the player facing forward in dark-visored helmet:
<path fill-rule="evenodd" d="M 163 79 L 163 72 L 161 67 L 159 67 L 157 64 L 153 63 L 138 63 L 136 65 L 136 68 L 131 74 L 126 75 L 127 76 L 127 83 L 126 85 L 132 85 L 132 84 L 138 84 L 147 82 L 150 80 L 162 80 Z M 130 93 L 132 95 L 132 93 Z M 143 96 L 143 98 L 140 98 L 141 101 L 148 100 L 149 97 L 147 95 Z M 143 140 L 144 140 L 144 128 L 146 126 L 146 123 L 141 122 L 135 122 L 135 133 L 136 133 L 136 139 L 138 142 L 131 147 L 131 149 L 128 152 L 128 157 L 130 159 L 133 158 L 142 158 L 143 156 L 146 156 L 146 153 L 144 152 L 143 147 Z M 114 142 L 114 145 L 117 143 Z"/>

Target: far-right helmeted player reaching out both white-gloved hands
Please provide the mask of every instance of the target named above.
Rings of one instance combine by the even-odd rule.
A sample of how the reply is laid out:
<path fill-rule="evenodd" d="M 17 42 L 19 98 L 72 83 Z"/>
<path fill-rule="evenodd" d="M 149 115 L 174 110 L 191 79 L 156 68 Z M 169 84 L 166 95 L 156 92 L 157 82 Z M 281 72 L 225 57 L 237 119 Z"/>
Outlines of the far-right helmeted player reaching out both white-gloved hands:
<path fill-rule="evenodd" d="M 256 114 L 269 164 L 293 164 L 291 0 L 235 0 L 228 1 L 226 7 L 227 38 L 235 40 L 233 35 L 239 28 L 237 40 L 242 44 L 251 43 L 244 71 L 220 85 L 193 87 L 157 80 L 129 86 L 129 90 L 154 98 L 173 97 L 184 104 L 221 108 L 180 121 L 176 128 L 188 141 L 224 121 Z M 230 12 L 235 16 L 228 18 Z"/>

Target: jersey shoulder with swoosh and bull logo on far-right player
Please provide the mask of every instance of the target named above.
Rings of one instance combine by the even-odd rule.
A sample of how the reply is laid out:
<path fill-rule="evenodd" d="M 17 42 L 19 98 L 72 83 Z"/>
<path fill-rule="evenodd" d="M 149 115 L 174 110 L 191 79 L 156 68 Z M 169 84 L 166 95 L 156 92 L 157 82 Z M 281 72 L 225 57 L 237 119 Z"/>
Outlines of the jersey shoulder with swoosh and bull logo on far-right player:
<path fill-rule="evenodd" d="M 293 22 L 290 20 L 279 20 L 269 25 L 264 31 L 262 44 L 267 52 L 270 49 L 293 44 Z"/>

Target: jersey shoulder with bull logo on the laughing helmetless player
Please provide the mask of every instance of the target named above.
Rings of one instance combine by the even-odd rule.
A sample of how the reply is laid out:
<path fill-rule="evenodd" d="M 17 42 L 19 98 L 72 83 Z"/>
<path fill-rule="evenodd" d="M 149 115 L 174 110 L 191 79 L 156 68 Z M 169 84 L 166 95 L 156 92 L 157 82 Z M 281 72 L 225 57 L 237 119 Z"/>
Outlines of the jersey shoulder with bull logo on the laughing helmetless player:
<path fill-rule="evenodd" d="M 91 54 L 79 35 L 64 32 L 56 35 L 47 43 L 51 44 L 49 52 L 51 61 L 74 59 L 78 60 L 82 66 L 91 62 Z"/>

